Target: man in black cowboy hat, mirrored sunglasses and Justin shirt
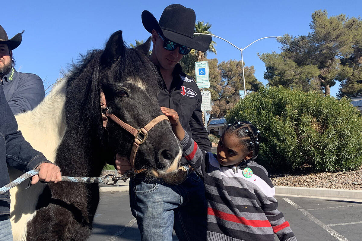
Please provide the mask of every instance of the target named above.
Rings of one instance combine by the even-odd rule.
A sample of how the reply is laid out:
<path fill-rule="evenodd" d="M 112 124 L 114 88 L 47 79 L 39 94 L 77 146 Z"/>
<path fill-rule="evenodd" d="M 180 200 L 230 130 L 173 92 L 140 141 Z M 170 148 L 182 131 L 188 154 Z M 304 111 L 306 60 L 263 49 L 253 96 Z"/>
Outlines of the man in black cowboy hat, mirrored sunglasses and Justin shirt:
<path fill-rule="evenodd" d="M 143 26 L 152 34 L 150 59 L 163 78 L 159 104 L 176 110 L 183 128 L 201 149 L 210 151 L 201 117 L 201 92 L 178 64 L 191 48 L 206 51 L 210 46 L 211 36 L 193 37 L 195 20 L 194 10 L 180 4 L 165 8 L 159 22 L 147 10 L 142 12 Z M 119 157 L 116 166 L 119 173 L 131 169 Z M 130 205 L 143 241 L 172 240 L 173 229 L 181 241 L 206 240 L 203 182 L 184 158 L 176 176 L 150 180 L 140 173 L 132 178 Z"/>

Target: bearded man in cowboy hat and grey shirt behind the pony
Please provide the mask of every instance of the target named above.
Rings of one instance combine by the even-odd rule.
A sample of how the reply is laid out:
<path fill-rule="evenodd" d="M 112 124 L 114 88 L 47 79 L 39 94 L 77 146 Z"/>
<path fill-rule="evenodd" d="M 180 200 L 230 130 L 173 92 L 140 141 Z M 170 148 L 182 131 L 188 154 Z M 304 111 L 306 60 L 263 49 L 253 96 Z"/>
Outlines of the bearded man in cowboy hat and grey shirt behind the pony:
<path fill-rule="evenodd" d="M 21 40 L 21 33 L 9 39 L 0 25 L 0 79 L 14 115 L 33 109 L 45 96 L 43 81 L 39 76 L 17 72 L 14 68 L 13 50 Z"/>

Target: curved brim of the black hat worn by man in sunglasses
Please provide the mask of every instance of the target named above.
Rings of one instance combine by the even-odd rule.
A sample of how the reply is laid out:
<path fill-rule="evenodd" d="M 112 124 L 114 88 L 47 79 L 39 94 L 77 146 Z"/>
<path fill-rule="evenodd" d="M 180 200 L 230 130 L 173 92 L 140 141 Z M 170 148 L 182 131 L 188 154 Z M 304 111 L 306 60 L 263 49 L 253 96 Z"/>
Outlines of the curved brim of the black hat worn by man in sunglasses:
<path fill-rule="evenodd" d="M 199 35 L 190 38 L 189 36 L 176 33 L 172 30 L 164 29 L 160 26 L 159 22 L 156 20 L 155 16 L 147 10 L 142 12 L 142 23 L 144 28 L 152 33 L 152 30 L 160 32 L 167 39 L 172 40 L 178 44 L 184 45 L 186 47 L 192 48 L 198 51 L 207 51 L 211 43 L 210 35 Z"/>

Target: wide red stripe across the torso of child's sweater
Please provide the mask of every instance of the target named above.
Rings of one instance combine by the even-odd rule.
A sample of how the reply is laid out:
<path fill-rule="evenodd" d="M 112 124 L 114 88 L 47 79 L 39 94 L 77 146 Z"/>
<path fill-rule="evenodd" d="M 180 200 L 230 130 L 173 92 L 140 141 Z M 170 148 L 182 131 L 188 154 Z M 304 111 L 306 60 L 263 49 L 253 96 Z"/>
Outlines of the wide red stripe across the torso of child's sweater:
<path fill-rule="evenodd" d="M 249 226 L 252 226 L 255 228 L 271 227 L 269 220 L 248 220 L 248 219 L 245 219 L 243 217 L 239 217 L 239 216 L 236 216 L 233 214 L 227 214 L 226 212 L 222 212 L 222 211 L 219 211 L 219 210 L 211 208 L 211 207 L 207 208 L 207 214 L 216 216 L 218 218 L 221 218 L 221 219 L 224 219 L 227 221 L 241 223 L 244 225 L 249 225 Z"/>

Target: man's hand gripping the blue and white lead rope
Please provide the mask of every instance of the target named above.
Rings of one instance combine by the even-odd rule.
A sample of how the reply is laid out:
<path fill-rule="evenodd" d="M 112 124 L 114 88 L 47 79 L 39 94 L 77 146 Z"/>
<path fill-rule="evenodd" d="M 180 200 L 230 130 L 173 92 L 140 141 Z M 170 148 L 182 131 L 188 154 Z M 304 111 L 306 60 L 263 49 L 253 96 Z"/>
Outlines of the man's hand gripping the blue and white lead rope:
<path fill-rule="evenodd" d="M 54 183 L 62 181 L 60 168 L 53 163 L 42 163 L 37 167 L 37 169 L 39 170 L 39 174 L 31 178 L 32 185 L 36 184 L 39 180 Z"/>

